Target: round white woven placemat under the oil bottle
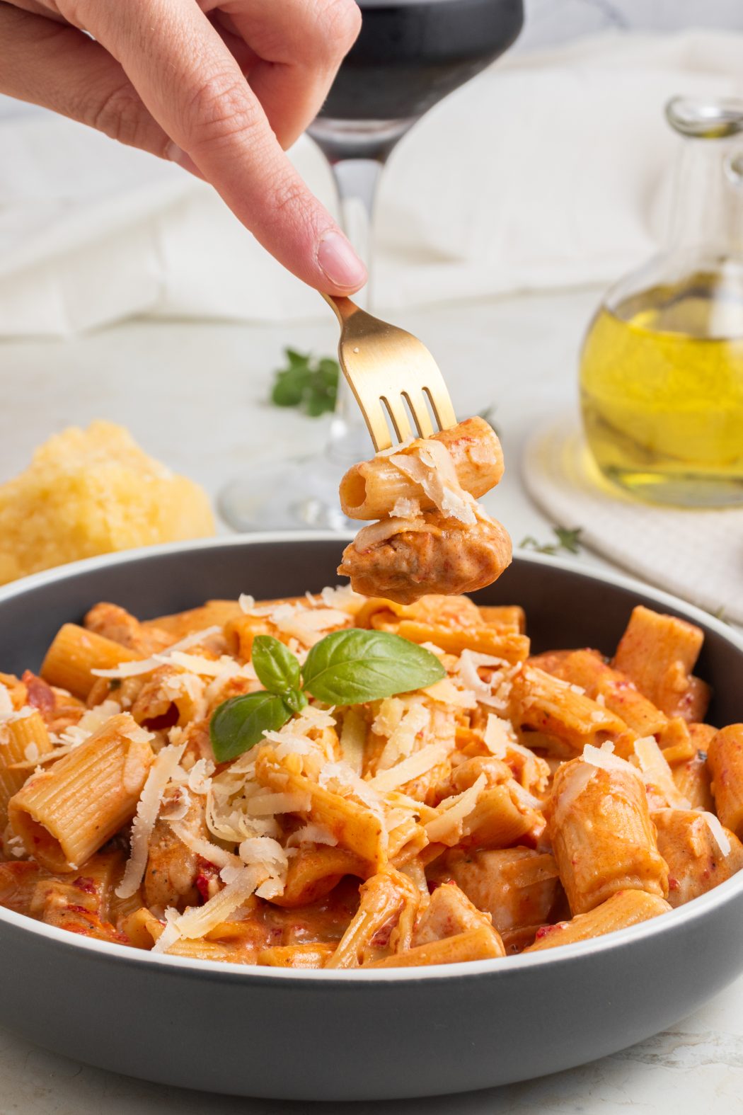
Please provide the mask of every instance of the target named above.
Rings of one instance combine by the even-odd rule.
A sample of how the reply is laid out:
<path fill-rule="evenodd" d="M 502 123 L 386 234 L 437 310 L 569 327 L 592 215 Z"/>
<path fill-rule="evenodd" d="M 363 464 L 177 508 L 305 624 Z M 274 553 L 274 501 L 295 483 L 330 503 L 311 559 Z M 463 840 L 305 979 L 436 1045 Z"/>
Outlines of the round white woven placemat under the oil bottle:
<path fill-rule="evenodd" d="M 556 524 L 580 526 L 592 550 L 724 619 L 743 623 L 743 511 L 641 503 L 598 472 L 573 415 L 527 444 L 524 482 Z"/>

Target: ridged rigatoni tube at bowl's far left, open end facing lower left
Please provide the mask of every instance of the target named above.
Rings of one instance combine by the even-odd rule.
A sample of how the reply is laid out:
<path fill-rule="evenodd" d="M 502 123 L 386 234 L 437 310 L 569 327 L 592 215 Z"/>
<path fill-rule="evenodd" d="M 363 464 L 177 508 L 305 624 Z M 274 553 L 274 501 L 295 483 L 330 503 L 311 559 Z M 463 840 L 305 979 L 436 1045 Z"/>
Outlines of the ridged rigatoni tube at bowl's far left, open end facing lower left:
<path fill-rule="evenodd" d="M 8 806 L 29 854 L 50 871 L 77 871 L 130 821 L 154 758 L 147 740 L 121 712 L 50 770 L 33 774 Z"/>

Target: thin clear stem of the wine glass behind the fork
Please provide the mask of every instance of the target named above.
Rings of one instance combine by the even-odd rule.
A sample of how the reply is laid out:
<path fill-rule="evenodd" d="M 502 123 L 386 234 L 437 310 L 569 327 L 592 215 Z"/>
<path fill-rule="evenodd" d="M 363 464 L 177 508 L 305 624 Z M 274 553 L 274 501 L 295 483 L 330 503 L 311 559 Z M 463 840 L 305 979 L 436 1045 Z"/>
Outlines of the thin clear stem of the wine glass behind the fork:
<path fill-rule="evenodd" d="M 371 301 L 372 215 L 382 165 L 375 158 L 342 158 L 331 164 L 343 231 L 369 269 L 366 285 L 353 295 L 362 309 L 369 309 Z M 344 465 L 352 465 L 373 453 L 359 404 L 343 375 L 338 385 L 335 414 L 325 453 Z"/>

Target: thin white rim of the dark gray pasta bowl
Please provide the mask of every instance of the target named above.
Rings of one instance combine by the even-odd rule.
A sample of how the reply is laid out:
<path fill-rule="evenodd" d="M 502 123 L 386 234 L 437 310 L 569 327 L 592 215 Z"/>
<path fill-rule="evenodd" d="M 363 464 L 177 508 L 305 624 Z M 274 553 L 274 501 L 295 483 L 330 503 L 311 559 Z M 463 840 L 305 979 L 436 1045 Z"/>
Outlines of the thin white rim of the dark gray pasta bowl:
<path fill-rule="evenodd" d="M 125 564 L 136 564 L 147 558 L 167 556 L 169 554 L 183 552 L 203 552 L 250 546 L 258 543 L 305 543 L 305 542 L 331 542 L 342 543 L 353 537 L 352 533 L 339 533 L 335 531 L 271 531 L 255 532 L 251 534 L 236 534 L 213 539 L 199 539 L 196 541 L 169 542 L 155 546 L 140 546 L 136 550 L 127 550 L 115 554 L 102 554 L 97 558 L 88 558 L 84 561 L 69 562 L 31 576 L 21 578 L 0 588 L 0 607 L 16 597 L 32 593 L 36 589 L 45 585 L 61 582 L 68 578 L 78 576 L 86 572 L 95 572 L 100 569 L 113 568 Z M 680 611 L 692 621 L 708 628 L 720 634 L 725 642 L 731 643 L 735 649 L 743 651 L 743 634 L 734 628 L 723 623 L 716 617 L 705 612 L 695 604 L 687 603 L 672 593 L 653 585 L 645 584 L 636 578 L 627 576 L 624 573 L 615 573 L 613 570 L 589 569 L 584 570 L 580 563 L 551 555 L 525 553 L 515 555 L 515 562 L 528 565 L 544 566 L 548 569 L 559 569 L 569 573 L 577 573 L 588 580 L 599 581 L 610 584 L 628 592 L 637 592 L 648 597 L 663 607 Z M 614 950 L 630 948 L 635 942 L 649 940 L 657 935 L 665 935 L 676 931 L 683 932 L 683 927 L 704 918 L 716 908 L 722 908 L 732 902 L 743 892 L 743 871 L 737 872 L 724 883 L 720 883 L 706 894 L 701 894 L 692 899 L 683 906 L 673 909 L 665 914 L 652 918 L 627 929 L 614 930 L 603 937 L 590 938 L 586 941 L 577 941 L 574 944 L 564 944 L 558 949 L 545 949 L 539 952 L 520 953 L 516 957 L 499 957 L 492 960 L 470 960 L 452 964 L 433 964 L 419 968 L 377 968 L 377 969 L 295 969 L 295 968 L 272 968 L 258 967 L 254 964 L 238 964 L 231 961 L 202 960 L 193 957 L 172 957 L 166 953 L 153 953 L 144 949 L 126 947 L 109 941 L 98 941 L 91 938 L 79 937 L 63 929 L 53 925 L 46 925 L 43 922 L 29 918 L 28 914 L 16 913 L 0 906 L 0 923 L 4 922 L 25 933 L 36 935 L 42 940 L 57 942 L 69 949 L 84 950 L 104 960 L 106 958 L 119 963 L 155 966 L 156 969 L 170 971 L 176 975 L 178 971 L 189 973 L 189 977 L 208 978 L 215 977 L 223 982 L 244 982 L 246 980 L 275 981 L 292 980 L 299 985 L 306 985 L 311 988 L 320 982 L 321 985 L 342 987 L 344 985 L 387 985 L 419 982 L 420 980 L 461 979 L 462 977 L 493 976 L 497 973 L 506 977 L 508 973 L 516 975 L 524 970 L 537 970 L 544 964 L 567 964 L 587 958 L 598 957 L 602 953 Z M 504 967 L 504 961 L 507 964 Z"/>

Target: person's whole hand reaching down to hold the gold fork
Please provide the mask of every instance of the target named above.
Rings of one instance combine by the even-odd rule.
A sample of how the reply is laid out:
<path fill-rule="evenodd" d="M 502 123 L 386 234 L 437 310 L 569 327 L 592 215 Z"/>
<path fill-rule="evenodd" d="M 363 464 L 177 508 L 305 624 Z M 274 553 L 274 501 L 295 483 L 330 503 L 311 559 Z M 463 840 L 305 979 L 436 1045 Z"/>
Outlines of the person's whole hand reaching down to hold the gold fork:
<path fill-rule="evenodd" d="M 349 294 L 365 269 L 283 148 L 359 27 L 353 0 L 6 0 L 0 93 L 198 174 L 284 266 Z"/>

